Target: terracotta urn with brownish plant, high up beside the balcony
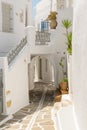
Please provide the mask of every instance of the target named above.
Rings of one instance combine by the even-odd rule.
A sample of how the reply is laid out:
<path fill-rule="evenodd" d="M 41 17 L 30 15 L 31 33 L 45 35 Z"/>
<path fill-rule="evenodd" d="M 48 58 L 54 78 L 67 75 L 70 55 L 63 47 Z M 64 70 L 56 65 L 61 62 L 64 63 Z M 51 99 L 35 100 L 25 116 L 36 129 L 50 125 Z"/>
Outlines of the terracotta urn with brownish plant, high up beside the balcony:
<path fill-rule="evenodd" d="M 57 27 L 57 12 L 56 11 L 51 11 L 50 14 L 48 15 L 47 20 L 50 21 L 50 28 L 51 29 L 56 29 Z"/>

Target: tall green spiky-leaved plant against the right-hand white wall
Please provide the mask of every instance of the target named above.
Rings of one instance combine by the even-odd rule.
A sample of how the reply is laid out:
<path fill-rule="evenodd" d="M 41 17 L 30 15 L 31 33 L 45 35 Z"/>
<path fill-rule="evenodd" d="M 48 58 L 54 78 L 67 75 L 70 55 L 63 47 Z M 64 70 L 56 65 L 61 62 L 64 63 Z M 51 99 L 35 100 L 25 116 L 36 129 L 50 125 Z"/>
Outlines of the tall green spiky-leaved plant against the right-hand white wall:
<path fill-rule="evenodd" d="M 69 31 L 69 28 L 72 26 L 71 21 L 68 19 L 62 20 L 62 25 L 66 29 L 66 45 L 67 45 L 67 51 L 69 54 L 72 54 L 72 32 Z"/>

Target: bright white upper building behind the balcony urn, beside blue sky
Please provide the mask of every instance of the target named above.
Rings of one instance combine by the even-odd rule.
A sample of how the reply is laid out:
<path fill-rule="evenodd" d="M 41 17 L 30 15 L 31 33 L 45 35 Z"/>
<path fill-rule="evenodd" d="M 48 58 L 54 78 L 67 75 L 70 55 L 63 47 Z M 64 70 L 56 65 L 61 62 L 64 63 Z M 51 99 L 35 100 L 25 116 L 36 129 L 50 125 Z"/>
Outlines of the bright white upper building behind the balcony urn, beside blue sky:
<path fill-rule="evenodd" d="M 41 0 L 36 5 L 35 25 L 38 28 L 42 20 L 46 20 L 51 11 L 73 7 L 71 0 Z M 58 11 L 59 14 L 59 11 Z"/>

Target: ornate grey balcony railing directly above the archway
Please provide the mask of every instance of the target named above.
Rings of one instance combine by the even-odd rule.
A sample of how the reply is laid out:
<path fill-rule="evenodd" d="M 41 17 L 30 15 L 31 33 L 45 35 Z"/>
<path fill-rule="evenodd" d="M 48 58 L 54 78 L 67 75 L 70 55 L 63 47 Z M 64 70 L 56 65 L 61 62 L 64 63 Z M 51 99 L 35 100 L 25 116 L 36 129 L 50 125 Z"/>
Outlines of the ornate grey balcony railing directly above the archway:
<path fill-rule="evenodd" d="M 50 42 L 50 33 L 48 31 L 36 31 L 36 45 L 48 45 Z"/>

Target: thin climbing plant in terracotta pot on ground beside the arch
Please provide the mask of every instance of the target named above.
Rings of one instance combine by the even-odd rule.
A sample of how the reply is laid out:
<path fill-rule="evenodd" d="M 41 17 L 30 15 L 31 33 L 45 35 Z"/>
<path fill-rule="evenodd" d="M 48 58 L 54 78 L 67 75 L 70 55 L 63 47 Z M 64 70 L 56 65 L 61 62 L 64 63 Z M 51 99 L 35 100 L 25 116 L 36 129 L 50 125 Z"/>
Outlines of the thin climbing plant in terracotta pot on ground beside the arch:
<path fill-rule="evenodd" d="M 59 65 L 62 69 L 62 74 L 63 74 L 63 79 L 59 84 L 59 88 L 60 91 L 63 93 L 67 93 L 68 92 L 68 79 L 67 79 L 67 73 L 64 70 L 64 60 L 65 60 L 65 52 L 63 53 L 64 56 L 61 57 L 60 61 L 59 61 Z"/>

